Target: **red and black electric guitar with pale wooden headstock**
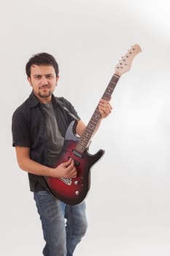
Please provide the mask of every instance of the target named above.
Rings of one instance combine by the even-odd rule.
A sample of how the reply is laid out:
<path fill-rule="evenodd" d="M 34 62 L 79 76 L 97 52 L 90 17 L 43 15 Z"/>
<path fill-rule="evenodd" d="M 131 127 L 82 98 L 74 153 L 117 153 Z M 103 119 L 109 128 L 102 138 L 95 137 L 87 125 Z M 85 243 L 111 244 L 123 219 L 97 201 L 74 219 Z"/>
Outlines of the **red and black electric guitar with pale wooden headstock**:
<path fill-rule="evenodd" d="M 125 56 L 121 58 L 115 66 L 115 73 L 112 76 L 107 89 L 104 91 L 102 96 L 103 99 L 110 99 L 120 76 L 131 69 L 131 63 L 134 57 L 141 51 L 142 50 L 139 45 L 134 45 L 127 53 L 125 53 Z M 98 150 L 96 154 L 88 153 L 90 139 L 93 136 L 93 132 L 100 118 L 101 113 L 98 111 L 97 106 L 80 138 L 75 135 L 77 121 L 72 121 L 66 130 L 63 148 L 61 154 L 58 154 L 54 167 L 68 161 L 71 157 L 74 159 L 74 166 L 77 169 L 77 177 L 44 177 L 51 194 L 66 204 L 76 205 L 85 199 L 88 194 L 88 190 L 90 189 L 90 167 L 92 167 L 92 165 L 94 165 L 104 154 L 104 150 L 102 149 Z"/>

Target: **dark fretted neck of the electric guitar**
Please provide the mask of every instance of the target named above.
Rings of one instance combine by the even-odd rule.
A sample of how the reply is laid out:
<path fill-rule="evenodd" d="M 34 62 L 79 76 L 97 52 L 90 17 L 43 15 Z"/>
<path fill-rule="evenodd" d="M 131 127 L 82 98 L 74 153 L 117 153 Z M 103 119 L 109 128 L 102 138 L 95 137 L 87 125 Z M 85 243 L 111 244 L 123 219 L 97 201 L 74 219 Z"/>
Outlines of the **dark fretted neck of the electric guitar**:
<path fill-rule="evenodd" d="M 107 99 L 109 100 L 112 92 L 115 89 L 115 86 L 117 85 L 117 82 L 119 80 L 120 76 L 114 74 L 112 76 L 112 79 L 110 80 L 107 89 L 104 91 L 103 96 L 101 97 L 102 99 Z M 93 116 L 90 118 L 90 121 L 88 122 L 88 125 L 85 129 L 85 131 L 82 134 L 82 137 L 80 138 L 79 142 L 77 143 L 77 146 L 75 148 L 75 151 L 78 151 L 80 154 L 82 154 L 86 148 L 88 148 L 88 144 L 93 137 L 93 133 L 96 129 L 96 126 L 98 124 L 99 119 L 101 118 L 101 113 L 98 110 L 98 106 L 96 110 L 93 113 Z"/>

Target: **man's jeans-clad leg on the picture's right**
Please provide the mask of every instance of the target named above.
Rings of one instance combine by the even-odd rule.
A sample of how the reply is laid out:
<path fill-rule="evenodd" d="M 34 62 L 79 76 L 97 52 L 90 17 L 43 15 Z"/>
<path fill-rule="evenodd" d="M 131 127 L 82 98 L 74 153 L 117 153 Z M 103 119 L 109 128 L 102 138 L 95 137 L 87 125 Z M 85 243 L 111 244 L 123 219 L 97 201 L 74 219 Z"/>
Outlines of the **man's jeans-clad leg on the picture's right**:
<path fill-rule="evenodd" d="M 85 236 L 88 227 L 85 216 L 85 202 L 76 206 L 66 205 L 66 256 L 72 256 L 75 247 Z"/>

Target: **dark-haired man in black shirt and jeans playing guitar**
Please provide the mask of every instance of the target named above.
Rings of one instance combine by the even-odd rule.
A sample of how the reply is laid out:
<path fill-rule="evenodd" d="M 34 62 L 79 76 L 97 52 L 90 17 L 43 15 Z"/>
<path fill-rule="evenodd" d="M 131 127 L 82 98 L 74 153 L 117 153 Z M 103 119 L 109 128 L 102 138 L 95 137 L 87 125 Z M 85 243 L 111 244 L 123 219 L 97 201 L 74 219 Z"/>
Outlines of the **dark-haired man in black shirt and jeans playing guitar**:
<path fill-rule="evenodd" d="M 72 159 L 57 167 L 54 164 L 71 121 L 77 119 L 76 132 L 80 136 L 85 124 L 70 102 L 53 95 L 59 77 L 58 63 L 52 55 L 38 53 L 31 57 L 26 64 L 26 75 L 32 92 L 12 116 L 13 146 L 20 169 L 28 172 L 30 190 L 34 192 L 42 221 L 46 241 L 43 255 L 72 256 L 87 229 L 85 202 L 69 206 L 55 199 L 43 176 L 77 176 Z M 112 107 L 108 101 L 101 99 L 98 110 L 103 119 L 109 115 Z"/>

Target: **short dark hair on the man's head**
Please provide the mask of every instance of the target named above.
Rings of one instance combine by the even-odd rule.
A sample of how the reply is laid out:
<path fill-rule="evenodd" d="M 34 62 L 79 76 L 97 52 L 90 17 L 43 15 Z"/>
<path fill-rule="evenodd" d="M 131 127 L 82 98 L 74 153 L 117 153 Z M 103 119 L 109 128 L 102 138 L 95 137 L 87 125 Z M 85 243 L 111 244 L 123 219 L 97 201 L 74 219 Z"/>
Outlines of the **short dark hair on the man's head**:
<path fill-rule="evenodd" d="M 26 64 L 26 75 L 28 78 L 31 77 L 31 66 L 32 65 L 48 65 L 53 66 L 55 69 L 55 74 L 58 76 L 58 63 L 55 58 L 49 53 L 37 53 L 32 56 L 28 63 Z"/>

